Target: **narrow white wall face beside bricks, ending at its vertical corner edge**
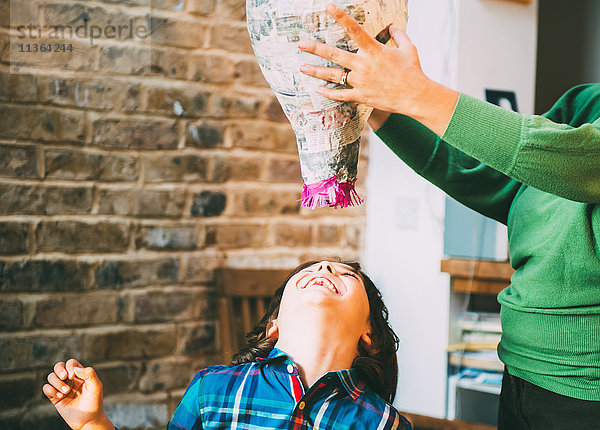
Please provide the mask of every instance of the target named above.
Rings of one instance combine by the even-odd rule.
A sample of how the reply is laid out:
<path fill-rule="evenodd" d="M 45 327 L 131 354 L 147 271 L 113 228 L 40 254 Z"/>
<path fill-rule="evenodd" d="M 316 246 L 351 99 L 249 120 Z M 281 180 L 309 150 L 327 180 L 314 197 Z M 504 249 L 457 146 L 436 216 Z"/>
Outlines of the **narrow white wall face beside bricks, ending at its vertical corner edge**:
<path fill-rule="evenodd" d="M 423 70 L 454 86 L 454 1 L 409 0 L 408 30 Z M 365 268 L 384 292 L 400 337 L 395 405 L 445 416 L 448 280 L 440 273 L 444 194 L 372 134 L 367 179 Z"/>

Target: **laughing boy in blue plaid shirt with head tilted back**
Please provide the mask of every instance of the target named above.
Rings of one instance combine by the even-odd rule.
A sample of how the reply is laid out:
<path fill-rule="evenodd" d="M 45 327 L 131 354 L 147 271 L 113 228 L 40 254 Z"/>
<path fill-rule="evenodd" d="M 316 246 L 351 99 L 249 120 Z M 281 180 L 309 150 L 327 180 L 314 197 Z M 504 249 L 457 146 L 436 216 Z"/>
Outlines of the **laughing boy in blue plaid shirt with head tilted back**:
<path fill-rule="evenodd" d="M 355 263 L 292 271 L 231 366 L 196 374 L 168 429 L 410 429 L 388 402 L 398 338 Z M 57 363 L 44 393 L 75 429 L 113 430 L 94 370 Z"/>

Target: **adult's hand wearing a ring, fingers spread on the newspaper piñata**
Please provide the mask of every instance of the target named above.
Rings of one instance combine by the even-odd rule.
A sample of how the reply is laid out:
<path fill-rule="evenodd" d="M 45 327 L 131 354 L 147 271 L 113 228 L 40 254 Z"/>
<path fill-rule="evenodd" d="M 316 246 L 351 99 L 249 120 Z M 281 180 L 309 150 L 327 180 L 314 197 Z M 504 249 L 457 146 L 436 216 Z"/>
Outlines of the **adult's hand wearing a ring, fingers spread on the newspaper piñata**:
<path fill-rule="evenodd" d="M 304 64 L 302 73 L 340 82 L 344 68 L 350 70 L 346 83 L 352 88 L 321 87 L 323 96 L 340 101 L 364 103 L 385 112 L 397 112 L 422 122 L 438 135 L 446 130 L 459 93 L 430 80 L 421 69 L 417 49 L 395 25 L 389 28 L 397 48 L 379 43 L 342 9 L 333 4 L 329 13 L 356 42 L 356 54 L 315 41 L 300 41 L 305 52 L 339 64 L 342 68 Z"/>

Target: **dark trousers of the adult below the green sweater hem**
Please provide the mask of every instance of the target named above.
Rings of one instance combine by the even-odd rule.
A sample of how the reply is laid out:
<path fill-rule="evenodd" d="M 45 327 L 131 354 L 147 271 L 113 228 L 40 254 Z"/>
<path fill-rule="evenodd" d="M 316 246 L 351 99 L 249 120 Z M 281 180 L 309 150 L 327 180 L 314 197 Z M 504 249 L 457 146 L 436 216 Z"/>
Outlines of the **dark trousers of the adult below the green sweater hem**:
<path fill-rule="evenodd" d="M 600 401 L 562 396 L 504 369 L 498 430 L 600 430 Z"/>

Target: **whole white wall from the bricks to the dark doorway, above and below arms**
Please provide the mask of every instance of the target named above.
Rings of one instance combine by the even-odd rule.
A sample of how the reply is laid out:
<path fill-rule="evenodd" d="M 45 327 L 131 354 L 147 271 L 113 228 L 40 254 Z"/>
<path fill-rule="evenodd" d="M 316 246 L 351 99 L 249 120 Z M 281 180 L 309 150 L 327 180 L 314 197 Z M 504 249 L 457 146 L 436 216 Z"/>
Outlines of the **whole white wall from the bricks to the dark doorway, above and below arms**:
<path fill-rule="evenodd" d="M 483 97 L 514 89 L 533 110 L 537 0 L 409 0 L 409 36 L 425 73 Z M 449 281 L 443 258 L 445 194 L 416 175 L 371 135 L 363 261 L 384 293 L 400 337 L 395 406 L 444 417 Z"/>

